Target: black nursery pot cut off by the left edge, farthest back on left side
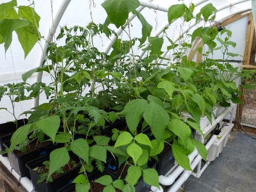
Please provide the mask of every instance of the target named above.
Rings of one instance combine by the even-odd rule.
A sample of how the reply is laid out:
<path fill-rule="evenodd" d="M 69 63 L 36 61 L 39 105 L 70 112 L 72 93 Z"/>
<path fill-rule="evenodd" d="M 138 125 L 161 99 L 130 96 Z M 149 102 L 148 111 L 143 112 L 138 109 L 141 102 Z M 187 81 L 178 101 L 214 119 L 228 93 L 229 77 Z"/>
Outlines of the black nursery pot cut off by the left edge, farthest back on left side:
<path fill-rule="evenodd" d="M 16 131 L 17 128 L 26 125 L 28 123 L 28 119 L 19 119 L 17 121 L 17 126 L 16 123 L 14 122 L 8 122 L 8 123 L 3 123 L 0 124 L 0 135 L 4 135 L 4 136 L 0 136 L 0 151 L 4 151 L 5 150 L 5 146 L 4 146 L 4 142 L 8 141 L 11 139 L 12 137 L 12 133 Z M 7 154 L 1 154 L 3 157 L 7 157 Z"/>

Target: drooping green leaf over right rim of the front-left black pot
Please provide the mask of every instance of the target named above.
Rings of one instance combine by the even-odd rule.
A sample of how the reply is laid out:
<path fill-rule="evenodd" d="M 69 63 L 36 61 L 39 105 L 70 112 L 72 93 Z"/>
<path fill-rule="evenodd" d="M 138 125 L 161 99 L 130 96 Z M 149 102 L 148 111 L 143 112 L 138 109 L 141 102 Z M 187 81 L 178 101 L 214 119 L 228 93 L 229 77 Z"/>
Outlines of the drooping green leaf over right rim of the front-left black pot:
<path fill-rule="evenodd" d="M 76 139 L 70 143 L 70 148 L 74 154 L 89 163 L 89 145 L 85 139 Z"/>

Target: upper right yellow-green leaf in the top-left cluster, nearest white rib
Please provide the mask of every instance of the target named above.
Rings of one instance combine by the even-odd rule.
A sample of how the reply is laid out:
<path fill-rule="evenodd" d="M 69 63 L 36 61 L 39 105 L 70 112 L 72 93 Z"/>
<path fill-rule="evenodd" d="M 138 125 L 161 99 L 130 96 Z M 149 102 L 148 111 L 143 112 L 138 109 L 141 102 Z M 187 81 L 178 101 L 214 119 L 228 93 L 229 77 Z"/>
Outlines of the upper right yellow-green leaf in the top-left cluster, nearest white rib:
<path fill-rule="evenodd" d="M 18 14 L 28 20 L 30 23 L 35 24 L 39 28 L 40 16 L 35 12 L 34 8 L 28 6 L 19 6 Z"/>

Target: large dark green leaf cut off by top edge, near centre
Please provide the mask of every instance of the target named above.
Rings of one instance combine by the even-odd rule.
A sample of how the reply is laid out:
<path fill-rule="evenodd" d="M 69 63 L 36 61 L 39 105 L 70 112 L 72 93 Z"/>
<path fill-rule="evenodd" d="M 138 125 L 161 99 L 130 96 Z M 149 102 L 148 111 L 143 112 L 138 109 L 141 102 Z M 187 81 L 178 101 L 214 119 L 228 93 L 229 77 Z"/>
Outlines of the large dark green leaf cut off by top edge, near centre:
<path fill-rule="evenodd" d="M 129 13 L 140 6 L 140 2 L 138 0 L 106 0 L 101 6 L 111 22 L 119 28 L 125 23 Z"/>

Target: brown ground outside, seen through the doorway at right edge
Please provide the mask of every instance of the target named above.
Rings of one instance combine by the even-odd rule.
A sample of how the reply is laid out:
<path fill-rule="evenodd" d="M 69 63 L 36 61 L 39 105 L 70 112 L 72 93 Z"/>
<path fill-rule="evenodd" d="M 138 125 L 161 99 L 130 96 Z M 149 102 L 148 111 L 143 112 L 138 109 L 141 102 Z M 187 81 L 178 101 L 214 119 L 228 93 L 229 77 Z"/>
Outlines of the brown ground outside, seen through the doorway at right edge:
<path fill-rule="evenodd" d="M 254 84 L 256 87 L 256 84 Z M 241 123 L 256 126 L 256 89 L 247 89 L 244 93 L 244 105 Z"/>

